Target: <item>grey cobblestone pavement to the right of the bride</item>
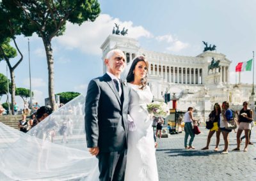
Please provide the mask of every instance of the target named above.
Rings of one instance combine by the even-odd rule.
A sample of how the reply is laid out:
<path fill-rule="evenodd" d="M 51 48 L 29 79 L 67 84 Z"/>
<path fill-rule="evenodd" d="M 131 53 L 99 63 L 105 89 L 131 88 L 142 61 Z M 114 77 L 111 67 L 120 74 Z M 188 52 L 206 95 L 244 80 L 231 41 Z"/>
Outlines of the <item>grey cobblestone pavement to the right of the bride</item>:
<path fill-rule="evenodd" d="M 156 150 L 159 180 L 256 180 L 256 130 L 252 130 L 252 142 L 248 152 L 231 151 L 236 148 L 236 133 L 229 134 L 229 153 L 214 152 L 216 134 L 212 136 L 209 150 L 205 147 L 209 130 L 200 127 L 202 133 L 195 136 L 195 150 L 184 149 L 184 132 L 157 139 Z M 243 136 L 244 133 L 242 133 Z M 190 137 L 189 137 L 190 138 Z M 224 148 L 220 137 L 219 150 Z"/>

